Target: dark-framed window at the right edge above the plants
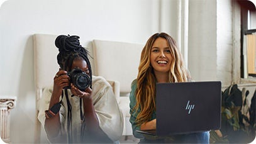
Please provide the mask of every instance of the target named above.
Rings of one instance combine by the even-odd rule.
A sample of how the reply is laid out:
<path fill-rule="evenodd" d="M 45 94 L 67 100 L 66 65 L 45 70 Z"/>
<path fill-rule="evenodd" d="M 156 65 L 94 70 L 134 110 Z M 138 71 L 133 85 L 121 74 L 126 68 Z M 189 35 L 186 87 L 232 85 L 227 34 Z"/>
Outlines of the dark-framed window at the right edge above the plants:
<path fill-rule="evenodd" d="M 241 8 L 241 77 L 256 79 L 256 9 L 251 1 L 238 1 Z"/>

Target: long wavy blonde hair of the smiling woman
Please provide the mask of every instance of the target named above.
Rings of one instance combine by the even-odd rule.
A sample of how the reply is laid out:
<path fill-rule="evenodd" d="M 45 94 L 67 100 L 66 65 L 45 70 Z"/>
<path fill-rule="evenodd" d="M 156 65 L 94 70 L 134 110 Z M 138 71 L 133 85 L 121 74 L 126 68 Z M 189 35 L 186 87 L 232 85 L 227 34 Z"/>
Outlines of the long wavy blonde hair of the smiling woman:
<path fill-rule="evenodd" d="M 142 125 L 150 120 L 153 111 L 156 110 L 155 103 L 155 74 L 150 64 L 151 48 L 157 38 L 165 38 L 172 55 L 169 72 L 169 82 L 187 82 L 190 79 L 189 72 L 184 67 L 181 52 L 177 48 L 175 40 L 167 33 L 155 33 L 152 35 L 142 50 L 140 65 L 138 67 L 137 87 L 135 91 L 136 105 L 133 110 L 139 111 L 136 124 Z"/>

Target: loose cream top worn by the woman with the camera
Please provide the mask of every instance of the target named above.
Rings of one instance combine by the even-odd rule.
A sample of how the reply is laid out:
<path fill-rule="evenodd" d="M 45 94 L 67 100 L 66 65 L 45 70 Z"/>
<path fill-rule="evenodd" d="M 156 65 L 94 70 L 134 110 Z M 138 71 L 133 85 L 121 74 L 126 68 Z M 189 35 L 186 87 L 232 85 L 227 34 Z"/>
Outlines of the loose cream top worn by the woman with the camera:
<path fill-rule="evenodd" d="M 69 101 L 72 106 L 72 139 L 75 143 L 80 142 L 81 139 L 80 104 L 79 97 L 71 97 L 72 94 L 69 89 L 68 93 Z M 38 114 L 38 119 L 42 123 L 43 128 L 45 127 L 45 111 L 48 110 L 51 96 L 52 87 L 45 88 L 43 90 L 43 97 L 40 100 L 40 111 Z M 123 116 L 118 108 L 112 87 L 103 77 L 92 76 L 91 96 L 101 130 L 103 130 L 111 140 L 119 140 L 123 132 Z M 67 111 L 67 99 L 64 94 L 60 107 L 61 135 L 67 133 Z M 83 107 L 82 111 L 84 111 Z"/>

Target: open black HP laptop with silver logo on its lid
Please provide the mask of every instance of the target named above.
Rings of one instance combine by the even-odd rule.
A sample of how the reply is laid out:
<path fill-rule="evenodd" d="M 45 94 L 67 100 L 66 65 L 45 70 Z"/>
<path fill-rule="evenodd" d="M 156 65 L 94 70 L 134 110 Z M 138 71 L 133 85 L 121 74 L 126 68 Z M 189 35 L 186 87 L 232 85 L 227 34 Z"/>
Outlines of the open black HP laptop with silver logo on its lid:
<path fill-rule="evenodd" d="M 219 130 L 221 82 L 157 83 L 157 130 L 137 130 L 157 136 Z"/>

